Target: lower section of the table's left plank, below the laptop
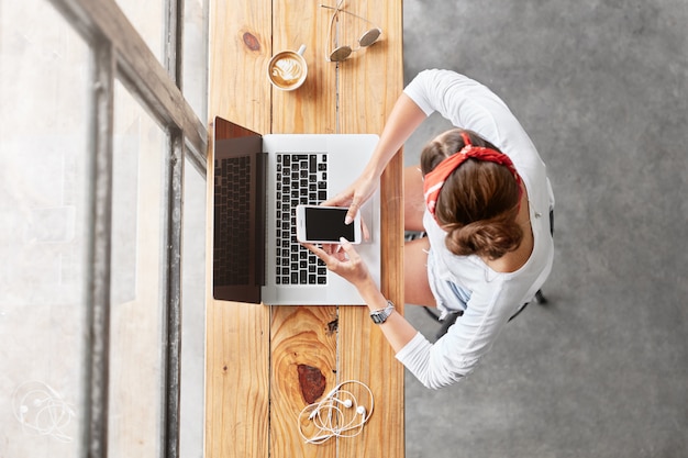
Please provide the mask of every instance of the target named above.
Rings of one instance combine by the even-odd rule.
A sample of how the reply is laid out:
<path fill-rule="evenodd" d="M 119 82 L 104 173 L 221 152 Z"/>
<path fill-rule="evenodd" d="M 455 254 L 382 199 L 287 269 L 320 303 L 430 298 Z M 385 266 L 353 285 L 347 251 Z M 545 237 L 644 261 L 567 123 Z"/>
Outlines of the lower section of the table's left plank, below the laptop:
<path fill-rule="evenodd" d="M 210 301 L 206 457 L 268 456 L 268 308 Z"/>

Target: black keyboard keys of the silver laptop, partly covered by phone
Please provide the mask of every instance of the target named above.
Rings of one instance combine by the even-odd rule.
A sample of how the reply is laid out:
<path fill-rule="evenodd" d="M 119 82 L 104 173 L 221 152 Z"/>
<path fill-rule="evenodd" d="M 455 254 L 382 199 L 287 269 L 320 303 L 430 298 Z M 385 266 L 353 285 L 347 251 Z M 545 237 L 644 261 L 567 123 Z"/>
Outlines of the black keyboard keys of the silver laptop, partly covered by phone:
<path fill-rule="evenodd" d="M 326 284 L 328 269 L 297 241 L 296 208 L 318 205 L 328 199 L 325 154 L 277 155 L 277 284 Z"/>

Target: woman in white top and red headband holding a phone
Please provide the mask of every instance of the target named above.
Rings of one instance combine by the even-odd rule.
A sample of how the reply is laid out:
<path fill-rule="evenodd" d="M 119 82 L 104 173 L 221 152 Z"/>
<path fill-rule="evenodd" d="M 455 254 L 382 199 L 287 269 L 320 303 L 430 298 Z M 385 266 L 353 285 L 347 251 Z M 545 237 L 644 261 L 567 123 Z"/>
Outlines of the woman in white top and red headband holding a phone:
<path fill-rule="evenodd" d="M 352 282 L 397 358 L 426 387 L 465 377 L 502 326 L 531 301 L 552 268 L 545 165 L 507 105 L 488 88 L 448 70 L 425 70 L 395 104 L 362 176 L 328 204 L 347 222 L 375 191 L 388 161 L 432 112 L 456 129 L 432 139 L 421 169 L 404 171 L 404 226 L 426 237 L 404 247 L 406 302 L 463 311 L 434 345 L 377 289 L 352 245 L 308 245 Z"/>

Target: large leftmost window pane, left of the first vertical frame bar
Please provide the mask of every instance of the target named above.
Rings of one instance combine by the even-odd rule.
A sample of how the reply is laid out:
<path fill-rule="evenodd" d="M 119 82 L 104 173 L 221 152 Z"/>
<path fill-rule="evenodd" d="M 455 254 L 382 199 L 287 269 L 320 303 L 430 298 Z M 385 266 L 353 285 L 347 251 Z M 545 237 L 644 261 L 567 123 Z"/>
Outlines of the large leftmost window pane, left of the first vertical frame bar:
<path fill-rule="evenodd" d="M 84 456 L 90 51 L 0 0 L 0 457 Z"/>

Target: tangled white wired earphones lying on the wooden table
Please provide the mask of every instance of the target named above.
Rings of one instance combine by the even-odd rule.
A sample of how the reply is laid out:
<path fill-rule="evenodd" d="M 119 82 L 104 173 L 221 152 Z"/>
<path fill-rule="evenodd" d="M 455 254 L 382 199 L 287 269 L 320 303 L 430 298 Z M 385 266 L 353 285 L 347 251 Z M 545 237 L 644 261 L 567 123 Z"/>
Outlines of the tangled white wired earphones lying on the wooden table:
<path fill-rule="evenodd" d="M 345 386 L 359 386 L 368 392 L 369 409 L 359 404 L 356 396 Z M 355 437 L 363 431 L 373 413 L 373 392 L 357 380 L 348 380 L 337 384 L 320 402 L 307 405 L 299 414 L 299 433 L 307 444 L 322 444 L 332 437 Z M 355 414 L 348 411 L 355 407 Z M 308 421 L 306 421 L 308 417 Z M 312 431 L 310 437 L 306 431 Z"/>

